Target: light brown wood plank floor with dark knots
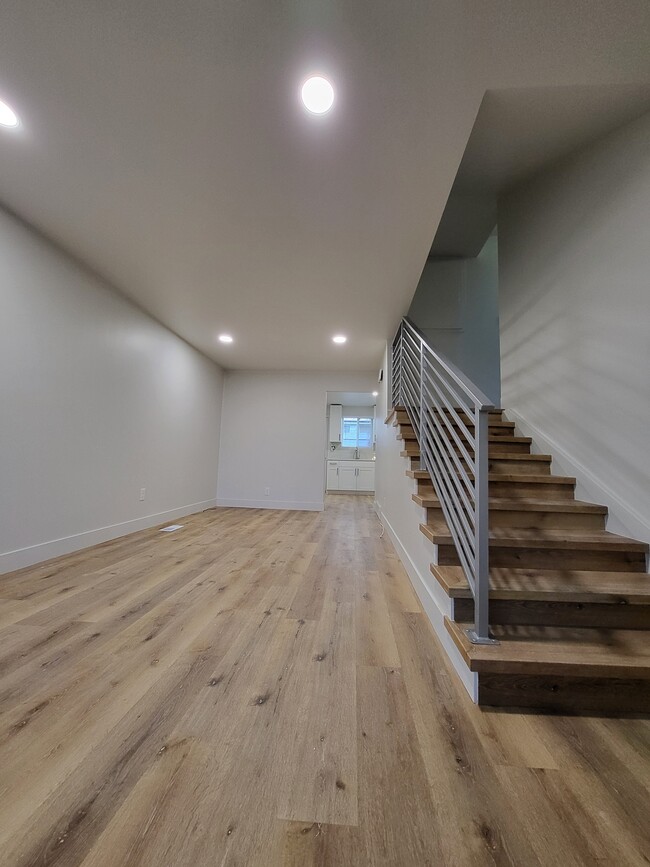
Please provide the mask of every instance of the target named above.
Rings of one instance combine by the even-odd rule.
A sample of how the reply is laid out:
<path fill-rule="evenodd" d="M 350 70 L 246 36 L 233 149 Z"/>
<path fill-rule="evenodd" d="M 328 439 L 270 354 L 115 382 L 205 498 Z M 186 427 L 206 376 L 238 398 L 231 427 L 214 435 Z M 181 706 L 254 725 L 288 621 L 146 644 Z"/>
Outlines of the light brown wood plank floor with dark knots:
<path fill-rule="evenodd" d="M 482 712 L 369 497 L 0 578 L 0 863 L 650 861 L 650 722 Z"/>

